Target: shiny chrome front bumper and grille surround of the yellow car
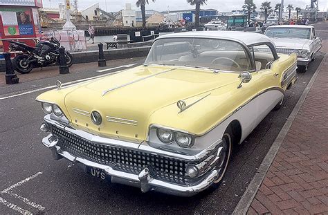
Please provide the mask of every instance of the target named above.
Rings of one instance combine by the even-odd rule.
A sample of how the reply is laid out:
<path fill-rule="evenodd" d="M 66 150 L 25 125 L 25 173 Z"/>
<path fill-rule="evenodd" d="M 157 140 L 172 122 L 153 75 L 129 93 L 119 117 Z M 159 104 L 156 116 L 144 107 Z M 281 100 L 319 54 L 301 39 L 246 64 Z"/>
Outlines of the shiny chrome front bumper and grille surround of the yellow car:
<path fill-rule="evenodd" d="M 76 135 L 82 135 L 83 138 L 86 138 L 86 135 L 91 135 L 90 133 L 86 133 L 85 131 L 78 131 L 78 130 L 73 130 L 70 129 L 69 127 L 64 127 L 58 124 L 57 122 L 54 122 L 50 118 L 44 118 L 44 120 L 48 124 L 52 124 L 55 127 L 61 127 L 61 129 L 65 129 L 66 131 L 69 131 L 73 133 L 76 131 Z M 100 138 L 98 136 L 92 135 L 93 138 L 89 138 L 90 141 L 95 141 L 97 140 L 100 142 Z M 113 146 L 118 147 L 118 144 L 122 144 L 122 146 L 127 146 L 131 144 L 130 142 L 118 142 L 119 140 L 111 140 L 108 138 L 102 138 L 106 139 L 108 142 L 111 142 Z M 193 162 L 193 161 L 199 161 L 203 160 L 202 162 L 208 162 L 206 160 L 209 160 L 209 158 L 213 157 L 213 154 L 217 153 L 218 151 L 218 146 L 221 144 L 222 140 L 219 140 L 212 144 L 208 149 L 205 149 L 201 151 L 201 153 L 197 154 L 196 156 L 185 156 L 185 155 L 179 155 L 179 154 L 174 154 L 171 152 L 165 152 L 165 151 L 159 151 L 158 149 L 152 148 L 152 151 L 149 151 L 149 153 L 156 153 L 158 155 L 163 156 L 165 153 L 165 156 L 172 157 L 174 156 L 175 159 L 181 158 L 183 160 L 188 160 L 188 162 Z M 166 182 L 164 180 L 158 180 L 156 178 L 152 178 L 152 175 L 149 174 L 149 171 L 147 167 L 143 169 L 143 171 L 140 171 L 139 174 L 131 174 L 127 173 L 125 171 L 118 171 L 116 169 L 113 169 L 113 167 L 108 166 L 108 165 L 102 165 L 98 162 L 93 162 L 91 160 L 87 160 L 85 158 L 79 157 L 79 156 L 74 156 L 72 153 L 69 153 L 68 151 L 64 151 L 60 148 L 60 146 L 57 145 L 59 140 L 55 138 L 53 134 L 49 134 L 46 136 L 46 138 L 42 139 L 42 143 L 44 146 L 48 147 L 51 149 L 53 153 L 53 157 L 55 160 L 58 160 L 60 158 L 66 158 L 67 160 L 70 160 L 71 162 L 74 162 L 76 164 L 82 164 L 87 167 L 93 167 L 97 169 L 102 169 L 105 174 L 110 176 L 111 182 L 112 183 L 120 183 L 124 185 L 131 185 L 134 187 L 140 187 L 141 191 L 146 192 L 146 191 L 159 191 L 165 194 L 172 194 L 176 196 L 193 196 L 200 191 L 203 191 L 204 189 L 207 189 L 214 183 L 217 178 L 219 178 L 219 171 L 215 168 L 211 168 L 206 173 L 203 174 L 201 181 L 197 182 L 197 184 L 192 184 L 192 185 L 178 185 L 170 182 Z M 101 141 L 103 142 L 103 140 Z M 134 144 L 136 145 L 136 144 Z M 214 151 L 214 153 L 213 153 Z M 215 156 L 215 159 L 210 160 L 210 165 L 215 164 L 216 160 L 219 157 Z"/>

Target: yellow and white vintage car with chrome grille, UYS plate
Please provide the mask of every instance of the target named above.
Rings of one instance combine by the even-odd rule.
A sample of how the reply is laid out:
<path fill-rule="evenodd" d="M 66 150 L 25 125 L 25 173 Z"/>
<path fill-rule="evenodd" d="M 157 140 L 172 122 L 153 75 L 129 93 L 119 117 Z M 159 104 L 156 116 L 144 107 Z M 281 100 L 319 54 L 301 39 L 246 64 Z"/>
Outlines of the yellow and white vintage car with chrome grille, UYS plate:
<path fill-rule="evenodd" d="M 192 196 L 217 185 L 233 145 L 282 106 L 296 60 L 256 33 L 164 35 L 141 66 L 39 95 L 42 142 L 98 178 Z"/>

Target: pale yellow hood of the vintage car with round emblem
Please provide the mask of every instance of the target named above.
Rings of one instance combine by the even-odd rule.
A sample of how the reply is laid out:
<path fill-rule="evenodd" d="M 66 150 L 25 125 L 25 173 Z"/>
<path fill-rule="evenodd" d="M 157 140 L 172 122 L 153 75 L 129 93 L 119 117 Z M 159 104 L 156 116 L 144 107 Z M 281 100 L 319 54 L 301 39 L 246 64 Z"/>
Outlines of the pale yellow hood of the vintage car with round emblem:
<path fill-rule="evenodd" d="M 72 124 L 79 129 L 140 142 L 145 140 L 152 124 L 149 122 L 151 115 L 159 109 L 176 106 L 179 100 L 195 102 L 201 94 L 238 81 L 235 73 L 138 66 L 73 87 L 66 93 L 64 105 Z M 202 102 L 194 105 L 202 105 Z M 102 115 L 99 126 L 91 122 L 92 111 Z"/>

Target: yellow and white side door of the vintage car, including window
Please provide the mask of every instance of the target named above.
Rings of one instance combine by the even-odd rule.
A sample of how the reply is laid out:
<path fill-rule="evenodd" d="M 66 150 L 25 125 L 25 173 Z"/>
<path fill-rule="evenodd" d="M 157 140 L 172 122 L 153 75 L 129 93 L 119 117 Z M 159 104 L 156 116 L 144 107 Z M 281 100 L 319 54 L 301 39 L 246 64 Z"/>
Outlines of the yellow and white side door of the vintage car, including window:
<path fill-rule="evenodd" d="M 267 45 L 253 47 L 253 55 L 257 71 L 253 74 L 256 77 L 257 86 L 257 117 L 255 126 L 261 122 L 265 116 L 284 97 L 281 88 L 280 78 L 282 71 L 273 70 L 271 65 L 275 59 L 271 49 Z"/>

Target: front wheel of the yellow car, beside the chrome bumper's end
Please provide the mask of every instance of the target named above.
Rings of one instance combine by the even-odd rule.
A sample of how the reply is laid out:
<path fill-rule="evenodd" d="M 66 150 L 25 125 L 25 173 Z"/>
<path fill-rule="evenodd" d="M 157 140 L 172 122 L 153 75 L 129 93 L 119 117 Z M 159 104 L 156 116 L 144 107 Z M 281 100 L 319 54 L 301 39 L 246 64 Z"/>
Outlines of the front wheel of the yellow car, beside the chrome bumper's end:
<path fill-rule="evenodd" d="M 228 167 L 231 151 L 233 151 L 233 130 L 231 127 L 228 127 L 226 131 L 224 131 L 224 135 L 222 137 L 222 144 L 217 151 L 217 156 L 219 160 L 217 161 L 217 171 L 219 172 L 219 177 L 215 180 L 215 184 L 219 184 L 226 173 L 226 169 Z"/>

